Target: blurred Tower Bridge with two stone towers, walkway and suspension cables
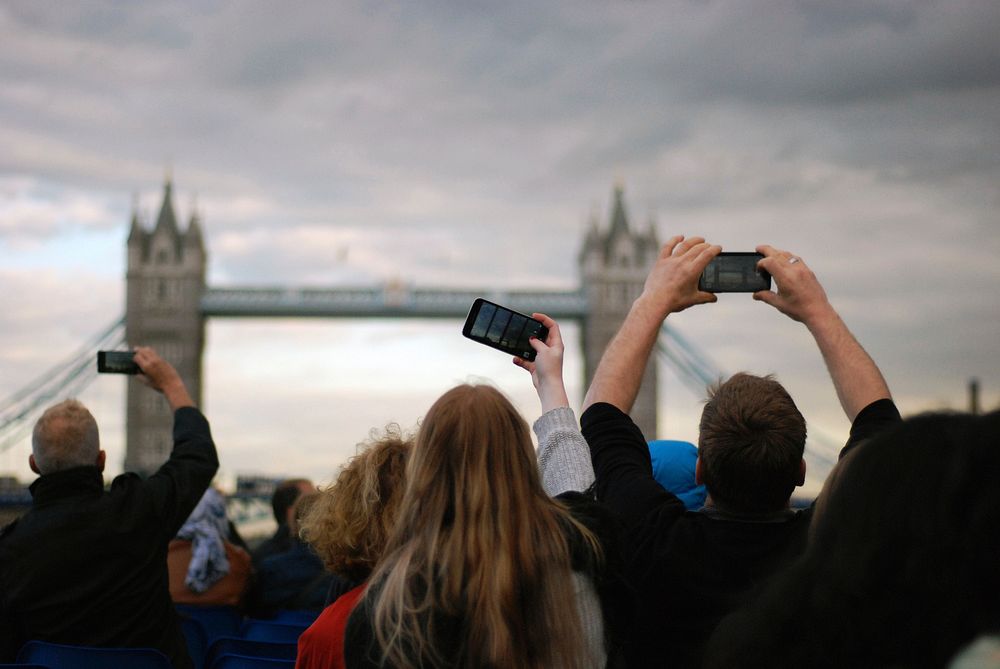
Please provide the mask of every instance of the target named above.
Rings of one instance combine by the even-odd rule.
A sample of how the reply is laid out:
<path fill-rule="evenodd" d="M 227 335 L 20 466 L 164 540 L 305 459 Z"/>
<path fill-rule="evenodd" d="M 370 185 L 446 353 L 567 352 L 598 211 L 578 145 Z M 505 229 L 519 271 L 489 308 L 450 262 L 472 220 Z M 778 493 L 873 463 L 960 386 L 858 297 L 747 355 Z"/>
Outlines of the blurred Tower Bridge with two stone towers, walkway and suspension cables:
<path fill-rule="evenodd" d="M 202 404 L 202 355 L 209 318 L 460 320 L 475 298 L 485 297 L 517 311 L 541 311 L 562 321 L 579 323 L 584 382 L 589 385 L 605 347 L 642 291 L 659 253 L 652 224 L 646 232 L 629 226 L 619 187 L 614 190 L 608 225 L 596 219 L 590 221 L 579 254 L 579 287 L 572 290 L 513 290 L 500 286 L 449 290 L 401 282 L 364 287 L 208 286 L 201 223 L 197 215 L 192 215 L 181 231 L 172 199 L 168 181 L 155 225 L 141 221 L 138 213 L 132 215 L 125 315 L 115 318 L 73 356 L 45 370 L 0 403 L 0 453 L 26 438 L 45 407 L 78 395 L 97 376 L 97 350 L 126 343 L 155 347 L 180 373 L 194 401 Z M 657 352 L 677 379 L 697 395 L 722 376 L 697 345 L 672 327 L 661 329 Z M 632 411 L 636 424 L 650 438 L 657 434 L 657 361 L 657 357 L 650 359 Z M 173 416 L 158 397 L 140 389 L 135 378 L 128 379 L 127 387 L 124 468 L 150 474 L 170 453 Z M 810 439 L 816 436 L 816 430 L 810 430 Z M 837 441 L 823 438 L 816 444 L 818 448 L 807 448 L 811 469 L 829 470 L 836 461 Z M 24 494 L 23 490 L 15 492 Z M 259 500 L 251 502 L 257 504 Z M 16 499 L 0 495 L 0 512 L 20 508 L 19 504 Z M 251 509 L 252 504 L 247 508 Z"/>

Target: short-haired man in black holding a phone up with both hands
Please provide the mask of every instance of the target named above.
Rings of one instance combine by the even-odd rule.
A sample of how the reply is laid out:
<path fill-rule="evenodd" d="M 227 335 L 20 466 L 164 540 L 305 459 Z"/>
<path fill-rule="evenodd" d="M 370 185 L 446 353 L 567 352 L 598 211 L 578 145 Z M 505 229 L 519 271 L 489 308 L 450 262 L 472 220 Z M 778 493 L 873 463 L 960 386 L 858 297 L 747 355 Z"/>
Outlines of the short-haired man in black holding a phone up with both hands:
<path fill-rule="evenodd" d="M 699 425 L 695 475 L 706 505 L 686 511 L 653 478 L 632 408 L 665 319 L 715 302 L 699 277 L 721 251 L 700 237 L 670 239 L 611 340 L 580 417 L 598 498 L 626 525 L 629 579 L 637 593 L 630 666 L 700 667 L 719 620 L 750 589 L 802 550 L 812 509 L 789 507 L 805 477 L 805 419 L 773 377 L 736 374 L 710 390 Z M 841 406 L 852 421 L 843 453 L 900 420 L 871 357 L 799 256 L 759 246 L 758 267 L 777 284 L 764 302 L 812 334 Z"/>

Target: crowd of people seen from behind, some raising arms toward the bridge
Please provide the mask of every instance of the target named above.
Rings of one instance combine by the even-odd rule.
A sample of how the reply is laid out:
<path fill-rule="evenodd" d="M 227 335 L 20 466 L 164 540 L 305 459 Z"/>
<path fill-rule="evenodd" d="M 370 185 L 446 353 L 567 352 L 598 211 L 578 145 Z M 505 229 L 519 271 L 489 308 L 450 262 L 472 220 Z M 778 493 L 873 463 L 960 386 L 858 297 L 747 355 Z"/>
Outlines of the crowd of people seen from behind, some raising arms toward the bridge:
<path fill-rule="evenodd" d="M 629 417 L 664 321 L 716 301 L 720 247 L 674 237 L 593 375 L 579 422 L 559 325 L 533 339 L 533 426 L 459 385 L 375 434 L 322 490 L 274 496 L 251 556 L 210 487 L 218 455 L 176 371 L 135 349 L 174 411 L 148 479 L 105 488 L 79 402 L 38 421 L 33 506 L 0 534 L 0 662 L 32 639 L 152 647 L 191 666 L 175 603 L 311 609 L 296 666 L 1000 666 L 1000 413 L 904 420 L 801 258 L 761 246 L 754 299 L 815 340 L 851 422 L 809 507 L 806 421 L 771 376 L 709 389 L 695 448 Z M 531 432 L 535 433 L 537 449 Z"/>

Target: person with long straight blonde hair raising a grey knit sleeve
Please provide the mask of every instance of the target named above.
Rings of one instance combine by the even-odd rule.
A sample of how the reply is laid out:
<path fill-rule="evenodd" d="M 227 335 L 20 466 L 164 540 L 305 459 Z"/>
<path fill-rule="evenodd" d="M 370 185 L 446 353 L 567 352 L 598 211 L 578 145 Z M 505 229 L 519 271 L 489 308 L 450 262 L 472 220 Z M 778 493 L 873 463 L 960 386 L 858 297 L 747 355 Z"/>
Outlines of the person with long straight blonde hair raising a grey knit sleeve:
<path fill-rule="evenodd" d="M 526 369 L 552 419 L 546 434 L 578 435 L 558 327 L 538 316 L 552 329 L 531 341 L 540 359 Z M 556 441 L 541 457 L 562 457 Z M 607 666 L 607 519 L 578 490 L 592 469 L 560 481 L 546 469 L 500 391 L 442 395 L 417 435 L 385 556 L 348 621 L 347 666 Z"/>

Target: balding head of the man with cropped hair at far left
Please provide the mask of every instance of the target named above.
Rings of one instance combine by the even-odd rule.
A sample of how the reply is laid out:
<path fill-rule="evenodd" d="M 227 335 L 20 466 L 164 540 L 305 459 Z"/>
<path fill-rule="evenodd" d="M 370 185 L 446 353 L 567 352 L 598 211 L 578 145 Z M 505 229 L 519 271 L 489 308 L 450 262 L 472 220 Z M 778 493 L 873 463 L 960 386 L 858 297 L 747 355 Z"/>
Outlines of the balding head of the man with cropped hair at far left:
<path fill-rule="evenodd" d="M 92 465 L 104 470 L 97 421 L 77 400 L 49 407 L 35 423 L 28 464 L 36 474 Z"/>

